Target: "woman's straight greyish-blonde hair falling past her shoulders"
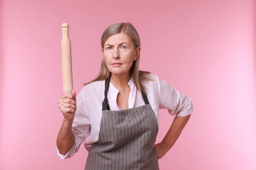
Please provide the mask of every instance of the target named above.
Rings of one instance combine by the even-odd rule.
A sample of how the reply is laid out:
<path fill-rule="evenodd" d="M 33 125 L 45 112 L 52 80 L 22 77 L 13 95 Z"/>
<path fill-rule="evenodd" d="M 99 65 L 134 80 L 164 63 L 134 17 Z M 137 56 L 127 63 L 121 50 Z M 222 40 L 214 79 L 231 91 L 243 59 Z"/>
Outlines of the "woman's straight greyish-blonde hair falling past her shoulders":
<path fill-rule="evenodd" d="M 105 29 L 101 37 L 102 48 L 105 42 L 107 41 L 107 39 L 112 35 L 116 35 L 117 33 L 126 33 L 131 38 L 131 41 L 133 42 L 135 49 L 140 47 L 139 33 L 131 23 L 127 22 L 127 23 L 113 24 Z M 133 82 L 135 82 L 135 86 L 137 87 L 137 89 L 140 90 L 140 92 L 146 93 L 146 88 L 144 87 L 142 82 L 151 80 L 151 78 L 149 78 L 148 76 L 150 72 L 139 71 L 139 63 L 140 63 L 140 53 L 138 54 L 138 58 L 135 61 L 133 61 L 133 65 L 131 66 L 131 69 L 130 69 L 131 78 L 133 78 Z M 110 76 L 111 76 L 111 73 L 110 71 L 108 71 L 105 60 L 103 58 L 101 62 L 100 73 L 95 79 L 91 80 L 91 82 L 106 80 L 110 78 Z M 86 84 L 90 84 L 91 82 L 88 82 Z"/>

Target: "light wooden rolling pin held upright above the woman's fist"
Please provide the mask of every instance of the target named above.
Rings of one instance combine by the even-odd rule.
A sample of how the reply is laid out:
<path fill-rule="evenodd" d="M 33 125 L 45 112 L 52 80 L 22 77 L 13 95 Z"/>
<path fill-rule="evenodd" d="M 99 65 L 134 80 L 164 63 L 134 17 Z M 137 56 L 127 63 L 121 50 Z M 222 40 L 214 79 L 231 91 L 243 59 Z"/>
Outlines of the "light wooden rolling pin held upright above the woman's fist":
<path fill-rule="evenodd" d="M 62 80 L 63 80 L 63 92 L 70 93 L 73 90 L 72 79 L 72 58 L 71 58 L 71 42 L 68 37 L 68 24 L 63 23 L 62 29 L 62 41 L 61 41 L 61 56 L 62 56 Z"/>

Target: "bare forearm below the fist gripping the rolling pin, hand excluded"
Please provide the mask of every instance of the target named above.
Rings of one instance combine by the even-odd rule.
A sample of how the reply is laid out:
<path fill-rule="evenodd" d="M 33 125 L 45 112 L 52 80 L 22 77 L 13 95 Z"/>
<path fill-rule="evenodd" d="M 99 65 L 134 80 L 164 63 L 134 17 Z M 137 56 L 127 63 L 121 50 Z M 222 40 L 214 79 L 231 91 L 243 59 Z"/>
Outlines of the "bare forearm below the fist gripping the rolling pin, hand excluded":
<path fill-rule="evenodd" d="M 56 140 L 57 148 L 60 154 L 65 155 L 75 143 L 75 137 L 72 133 L 72 120 L 63 120 L 58 137 Z"/>

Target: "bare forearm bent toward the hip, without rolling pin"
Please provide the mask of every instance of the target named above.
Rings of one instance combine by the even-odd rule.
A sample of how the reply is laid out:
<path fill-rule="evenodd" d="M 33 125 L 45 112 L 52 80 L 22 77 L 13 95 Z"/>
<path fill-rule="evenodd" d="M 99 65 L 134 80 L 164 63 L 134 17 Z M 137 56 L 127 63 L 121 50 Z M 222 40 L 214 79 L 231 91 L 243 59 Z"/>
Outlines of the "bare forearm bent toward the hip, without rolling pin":
<path fill-rule="evenodd" d="M 163 141 L 156 144 L 156 150 L 158 152 L 158 159 L 163 158 L 165 154 L 171 149 L 173 144 L 177 141 L 179 135 L 181 135 L 182 129 L 186 126 L 190 115 L 188 116 L 176 116 L 171 124 L 171 127 L 167 131 Z"/>

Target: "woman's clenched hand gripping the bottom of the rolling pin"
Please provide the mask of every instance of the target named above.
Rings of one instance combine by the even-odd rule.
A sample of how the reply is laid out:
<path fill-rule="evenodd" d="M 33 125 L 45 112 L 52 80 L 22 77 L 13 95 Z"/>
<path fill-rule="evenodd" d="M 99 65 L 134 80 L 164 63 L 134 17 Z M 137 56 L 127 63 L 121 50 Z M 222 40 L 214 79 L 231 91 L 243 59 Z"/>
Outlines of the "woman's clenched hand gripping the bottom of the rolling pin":
<path fill-rule="evenodd" d="M 75 91 L 64 93 L 58 100 L 58 108 L 61 110 L 65 120 L 73 120 L 76 110 Z"/>

